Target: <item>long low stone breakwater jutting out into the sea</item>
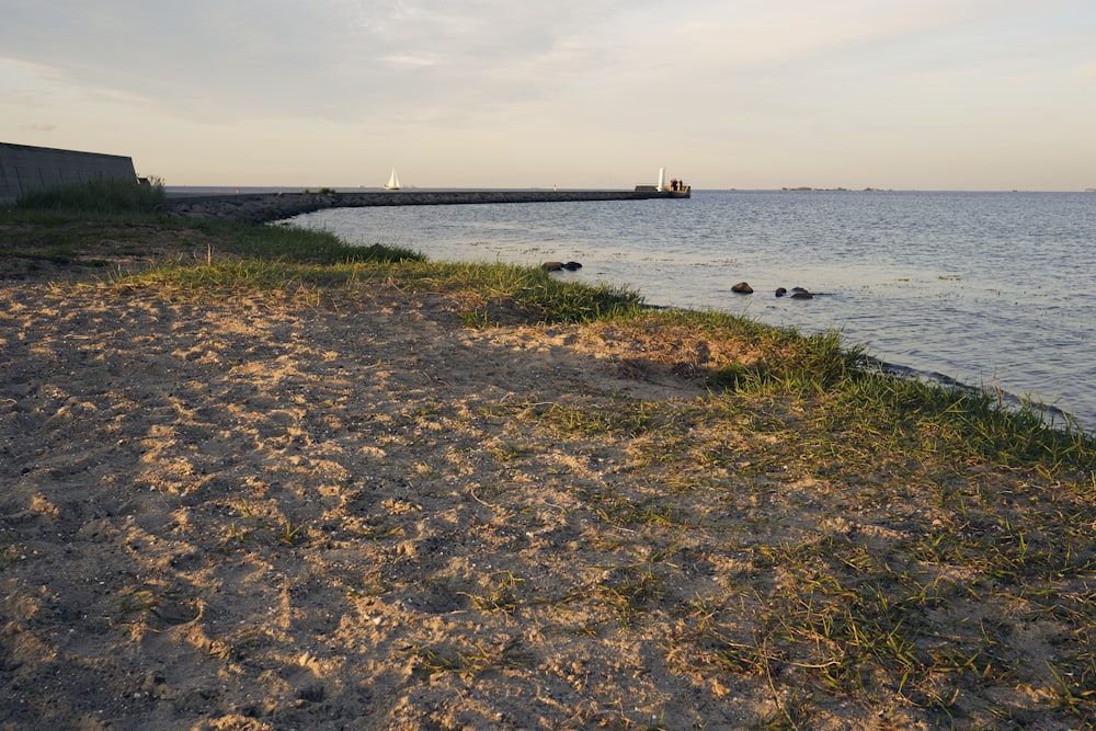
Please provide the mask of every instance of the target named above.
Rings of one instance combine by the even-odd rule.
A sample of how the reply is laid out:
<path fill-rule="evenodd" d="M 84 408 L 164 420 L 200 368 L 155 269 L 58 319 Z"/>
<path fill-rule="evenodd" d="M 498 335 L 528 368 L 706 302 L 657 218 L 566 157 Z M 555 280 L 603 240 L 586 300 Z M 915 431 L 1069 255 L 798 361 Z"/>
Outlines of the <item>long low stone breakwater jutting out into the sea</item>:
<path fill-rule="evenodd" d="M 686 197 L 670 191 L 396 191 L 363 193 L 254 193 L 168 197 L 176 216 L 232 218 L 256 224 L 326 208 L 437 206 L 561 201 L 643 201 Z"/>

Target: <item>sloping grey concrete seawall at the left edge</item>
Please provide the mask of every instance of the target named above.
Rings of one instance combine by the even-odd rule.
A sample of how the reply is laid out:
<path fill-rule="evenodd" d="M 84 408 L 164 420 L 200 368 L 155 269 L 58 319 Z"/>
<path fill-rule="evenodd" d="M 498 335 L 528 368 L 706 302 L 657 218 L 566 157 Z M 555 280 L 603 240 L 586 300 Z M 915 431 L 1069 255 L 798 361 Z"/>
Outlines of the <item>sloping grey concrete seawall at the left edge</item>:
<path fill-rule="evenodd" d="M 43 187 L 115 179 L 137 184 L 132 158 L 0 142 L 0 204 Z"/>

